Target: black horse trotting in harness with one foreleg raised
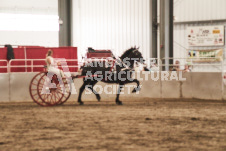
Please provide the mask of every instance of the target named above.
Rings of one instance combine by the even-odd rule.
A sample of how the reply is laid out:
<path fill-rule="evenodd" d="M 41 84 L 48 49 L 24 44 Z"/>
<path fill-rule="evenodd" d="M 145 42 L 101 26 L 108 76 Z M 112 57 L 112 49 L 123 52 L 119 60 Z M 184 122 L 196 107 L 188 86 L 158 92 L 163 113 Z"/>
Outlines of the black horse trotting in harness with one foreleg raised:
<path fill-rule="evenodd" d="M 94 85 L 99 82 L 105 82 L 105 83 L 117 83 L 119 84 L 117 97 L 116 97 L 116 104 L 122 105 L 122 102 L 119 100 L 119 95 L 121 92 L 121 89 L 125 84 L 128 83 L 136 83 L 137 87 L 135 87 L 132 91 L 132 93 L 135 93 L 140 90 L 140 82 L 137 79 L 133 79 L 132 72 L 134 71 L 134 63 L 140 62 L 144 63 L 144 59 L 142 54 L 138 50 L 139 48 L 132 47 L 128 50 L 126 50 L 123 55 L 120 57 L 120 59 L 116 59 L 115 63 L 112 65 L 107 65 L 106 62 L 97 62 L 92 61 L 86 63 L 84 66 L 82 66 L 82 74 L 81 76 L 84 76 L 83 78 L 83 85 L 80 88 L 79 96 L 78 96 L 78 103 L 80 105 L 83 105 L 83 102 L 81 100 L 82 93 L 84 89 L 87 87 L 89 90 L 91 90 L 95 95 L 98 101 L 100 101 L 100 94 L 98 94 L 94 89 Z"/>

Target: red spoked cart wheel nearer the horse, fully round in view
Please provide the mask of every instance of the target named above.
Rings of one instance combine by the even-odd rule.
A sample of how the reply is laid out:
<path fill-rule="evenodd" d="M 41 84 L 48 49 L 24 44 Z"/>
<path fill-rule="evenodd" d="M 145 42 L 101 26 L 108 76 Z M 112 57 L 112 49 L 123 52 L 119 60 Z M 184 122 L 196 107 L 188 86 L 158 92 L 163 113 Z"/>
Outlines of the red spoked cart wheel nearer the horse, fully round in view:
<path fill-rule="evenodd" d="M 51 87 L 47 84 L 51 83 Z M 64 86 L 61 87 L 61 84 Z M 61 82 L 58 81 L 57 77 L 54 75 L 50 79 L 44 74 L 38 82 L 38 94 L 40 99 L 48 106 L 60 105 L 67 101 L 70 97 L 70 86 L 67 84 L 67 80 L 64 79 Z"/>

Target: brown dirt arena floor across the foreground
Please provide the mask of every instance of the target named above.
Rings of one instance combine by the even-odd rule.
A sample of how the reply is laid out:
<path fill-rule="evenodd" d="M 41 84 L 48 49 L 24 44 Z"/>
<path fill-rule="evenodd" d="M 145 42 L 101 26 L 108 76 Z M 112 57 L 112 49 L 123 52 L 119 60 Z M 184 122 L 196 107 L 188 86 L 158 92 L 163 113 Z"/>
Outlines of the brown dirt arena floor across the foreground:
<path fill-rule="evenodd" d="M 0 150 L 226 150 L 226 103 L 0 103 Z"/>

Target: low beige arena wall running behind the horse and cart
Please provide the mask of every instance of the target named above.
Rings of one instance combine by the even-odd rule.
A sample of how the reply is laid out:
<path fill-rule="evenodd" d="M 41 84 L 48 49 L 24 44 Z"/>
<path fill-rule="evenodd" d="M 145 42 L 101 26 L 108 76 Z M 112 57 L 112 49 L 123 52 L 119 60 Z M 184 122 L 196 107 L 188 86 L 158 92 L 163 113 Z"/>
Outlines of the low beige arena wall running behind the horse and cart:
<path fill-rule="evenodd" d="M 145 73 L 145 72 L 143 72 Z M 0 88 L 0 101 L 29 101 L 32 99 L 29 94 L 29 84 L 31 79 L 37 73 L 1 73 L 1 88 Z M 158 73 L 154 74 L 157 77 Z M 172 73 L 170 73 L 171 75 Z M 178 74 L 178 73 L 177 73 Z M 183 78 L 186 80 L 168 80 L 162 81 L 161 74 L 160 80 L 153 80 L 152 75 L 148 75 L 148 81 L 140 80 L 141 91 L 139 94 L 128 93 L 136 86 L 136 84 L 130 84 L 132 87 L 124 88 L 120 97 L 128 98 L 162 98 L 162 99 L 179 99 L 179 98 L 197 98 L 204 100 L 226 100 L 226 86 L 223 85 L 221 73 L 183 73 Z M 145 79 L 145 74 L 139 73 L 139 77 Z M 70 101 L 76 101 L 79 93 L 79 88 L 82 85 L 82 79 L 75 79 L 74 85 L 76 94 L 72 94 Z M 105 88 L 107 84 L 99 82 L 95 89 L 100 91 L 100 86 Z M 114 84 L 111 87 L 106 88 L 109 93 L 101 93 L 101 98 L 104 101 L 114 101 L 117 92 L 117 85 Z M 84 101 L 96 101 L 96 97 L 93 93 L 83 94 L 82 99 Z"/>

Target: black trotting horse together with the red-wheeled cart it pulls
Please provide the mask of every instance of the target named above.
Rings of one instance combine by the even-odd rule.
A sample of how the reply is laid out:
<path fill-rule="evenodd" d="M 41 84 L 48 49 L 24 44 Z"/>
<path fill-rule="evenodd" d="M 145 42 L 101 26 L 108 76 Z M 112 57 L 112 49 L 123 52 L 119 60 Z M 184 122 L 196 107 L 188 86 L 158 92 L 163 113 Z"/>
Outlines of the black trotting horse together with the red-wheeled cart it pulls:
<path fill-rule="evenodd" d="M 86 86 L 89 85 L 91 90 L 98 101 L 100 101 L 100 95 L 93 89 L 94 85 L 99 82 L 105 83 L 116 83 L 119 84 L 119 89 L 116 94 L 116 104 L 121 105 L 122 102 L 119 100 L 119 95 L 122 86 L 129 83 L 136 83 L 137 86 L 133 89 L 132 93 L 140 90 L 140 82 L 137 79 L 132 78 L 134 71 L 134 63 L 136 61 L 144 63 L 142 54 L 138 51 L 139 48 L 132 47 L 124 52 L 120 59 L 100 60 L 100 64 L 92 60 L 85 62 L 82 66 L 83 72 L 80 76 L 73 76 L 67 78 L 58 78 L 54 73 L 40 72 L 34 76 L 30 83 L 30 95 L 35 103 L 41 106 L 54 106 L 65 103 L 71 95 L 72 89 L 72 78 L 85 78 L 83 85 L 80 88 L 78 103 L 83 104 L 81 97 Z M 104 62 L 107 62 L 106 64 Z M 117 68 L 118 67 L 118 68 Z M 96 72 L 98 71 L 98 73 Z M 90 73 L 91 75 L 87 75 Z M 49 74 L 51 76 L 49 76 Z M 109 74 L 110 76 L 107 76 Z M 100 75 L 102 78 L 91 78 Z M 123 78 L 124 77 L 124 78 Z"/>

